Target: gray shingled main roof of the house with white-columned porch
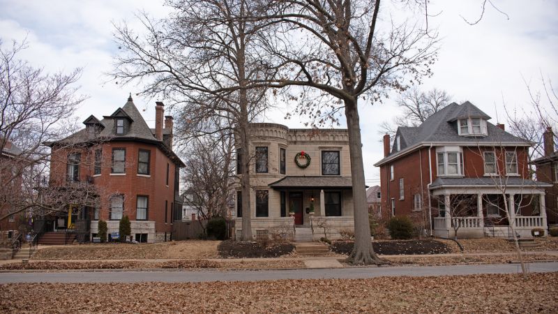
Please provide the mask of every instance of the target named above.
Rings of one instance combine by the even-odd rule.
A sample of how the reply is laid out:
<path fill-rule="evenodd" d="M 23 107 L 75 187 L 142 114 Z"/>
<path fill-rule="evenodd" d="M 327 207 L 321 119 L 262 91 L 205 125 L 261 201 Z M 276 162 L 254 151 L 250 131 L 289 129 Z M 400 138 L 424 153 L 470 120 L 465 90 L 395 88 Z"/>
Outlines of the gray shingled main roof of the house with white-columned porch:
<path fill-rule="evenodd" d="M 418 143 L 455 143 L 455 145 L 460 144 L 483 144 L 483 143 L 518 143 L 518 144 L 528 144 L 526 140 L 520 137 L 511 135 L 506 131 L 498 128 L 490 122 L 486 122 L 486 129 L 488 135 L 477 136 L 477 137 L 466 137 L 458 134 L 457 119 L 465 117 L 482 117 L 483 119 L 490 119 L 487 114 L 482 112 L 472 103 L 466 101 L 461 105 L 457 103 L 451 103 L 439 110 L 435 114 L 432 114 L 426 121 L 417 127 L 400 127 L 397 130 L 396 135 L 400 138 L 400 151 L 395 151 L 392 147 L 391 153 L 388 157 L 400 154 L 405 151 L 408 147 L 413 147 Z M 395 146 L 395 145 L 394 145 Z M 384 158 L 384 159 L 386 159 Z M 384 159 L 380 160 L 376 165 L 384 162 Z"/>

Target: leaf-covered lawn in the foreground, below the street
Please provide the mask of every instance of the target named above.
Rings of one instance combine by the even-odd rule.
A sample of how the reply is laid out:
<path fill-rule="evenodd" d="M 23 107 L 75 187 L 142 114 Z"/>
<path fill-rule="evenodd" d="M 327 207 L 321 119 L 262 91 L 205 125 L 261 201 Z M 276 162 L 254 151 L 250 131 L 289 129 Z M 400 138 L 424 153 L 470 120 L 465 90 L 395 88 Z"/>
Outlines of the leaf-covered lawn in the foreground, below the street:
<path fill-rule="evenodd" d="M 0 285 L 2 313 L 556 313 L 558 273 Z"/>

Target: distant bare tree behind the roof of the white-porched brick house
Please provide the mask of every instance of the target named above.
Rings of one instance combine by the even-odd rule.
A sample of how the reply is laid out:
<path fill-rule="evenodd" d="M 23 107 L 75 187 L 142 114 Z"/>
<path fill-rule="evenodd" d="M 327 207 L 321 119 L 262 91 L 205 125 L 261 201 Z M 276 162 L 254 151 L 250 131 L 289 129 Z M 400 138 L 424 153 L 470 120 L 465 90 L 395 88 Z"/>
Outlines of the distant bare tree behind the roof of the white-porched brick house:
<path fill-rule="evenodd" d="M 431 89 L 423 92 L 417 87 L 402 92 L 396 100 L 403 113 L 390 123 L 382 122 L 379 133 L 389 134 L 393 139 L 400 126 L 420 126 L 428 117 L 449 105 L 451 96 L 446 91 Z"/>

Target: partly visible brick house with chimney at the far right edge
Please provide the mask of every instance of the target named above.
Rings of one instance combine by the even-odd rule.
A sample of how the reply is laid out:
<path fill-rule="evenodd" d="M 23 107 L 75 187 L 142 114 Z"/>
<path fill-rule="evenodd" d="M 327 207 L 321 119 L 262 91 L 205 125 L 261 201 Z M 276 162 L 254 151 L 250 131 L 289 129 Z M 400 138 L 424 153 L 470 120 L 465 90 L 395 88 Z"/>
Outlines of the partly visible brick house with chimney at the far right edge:
<path fill-rule="evenodd" d="M 548 225 L 558 225 L 558 151 L 554 149 L 554 136 L 552 128 L 547 128 L 543 133 L 545 156 L 531 161 L 536 166 L 536 179 L 551 184 L 545 188 Z"/>

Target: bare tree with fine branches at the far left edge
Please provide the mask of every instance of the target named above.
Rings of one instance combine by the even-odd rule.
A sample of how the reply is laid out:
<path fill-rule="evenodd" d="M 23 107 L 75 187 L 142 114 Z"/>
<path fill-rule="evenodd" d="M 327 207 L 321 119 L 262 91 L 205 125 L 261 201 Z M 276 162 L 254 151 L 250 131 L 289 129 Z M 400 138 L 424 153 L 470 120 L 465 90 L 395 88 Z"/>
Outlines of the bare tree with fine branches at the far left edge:
<path fill-rule="evenodd" d="M 72 114 L 84 100 L 75 87 L 81 70 L 64 74 L 34 68 L 19 57 L 26 48 L 25 41 L 11 47 L 0 41 L 0 220 L 24 211 L 61 213 L 98 194 L 86 182 L 62 188 L 47 184 L 51 156 L 43 143 L 76 130 Z"/>

